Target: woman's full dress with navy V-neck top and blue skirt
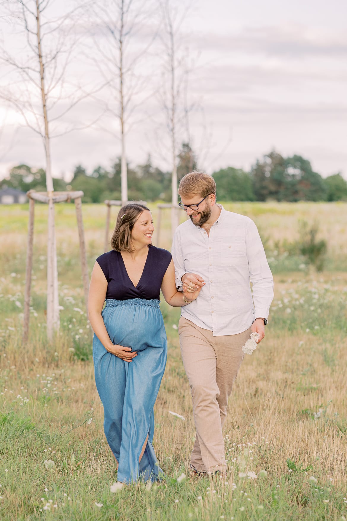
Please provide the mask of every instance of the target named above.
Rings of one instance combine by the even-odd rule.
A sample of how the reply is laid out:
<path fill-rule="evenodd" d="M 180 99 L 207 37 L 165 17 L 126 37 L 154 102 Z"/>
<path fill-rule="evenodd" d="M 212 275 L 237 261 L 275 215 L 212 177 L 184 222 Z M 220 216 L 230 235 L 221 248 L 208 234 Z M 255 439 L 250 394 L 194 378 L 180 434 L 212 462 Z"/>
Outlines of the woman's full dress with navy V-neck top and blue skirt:
<path fill-rule="evenodd" d="M 166 364 L 167 341 L 159 295 L 170 262 L 170 252 L 149 246 L 135 288 L 120 252 L 111 250 L 97 258 L 108 282 L 102 318 L 109 337 L 113 344 L 138 353 L 131 363 L 124 362 L 109 353 L 94 335 L 95 381 L 104 405 L 105 435 L 119 464 L 117 479 L 124 483 L 155 481 L 162 473 L 152 446 L 153 406 Z"/>

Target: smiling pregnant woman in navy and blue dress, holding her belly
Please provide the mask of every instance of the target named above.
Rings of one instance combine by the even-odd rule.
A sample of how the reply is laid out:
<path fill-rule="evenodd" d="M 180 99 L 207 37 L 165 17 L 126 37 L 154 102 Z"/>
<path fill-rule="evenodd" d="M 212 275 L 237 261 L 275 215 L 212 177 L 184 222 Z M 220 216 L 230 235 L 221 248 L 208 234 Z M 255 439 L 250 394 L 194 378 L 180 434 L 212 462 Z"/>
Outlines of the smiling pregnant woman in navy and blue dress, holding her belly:
<path fill-rule="evenodd" d="M 187 305 L 199 294 L 176 290 L 171 253 L 151 245 L 153 230 L 146 206 L 123 206 L 112 250 L 97 258 L 89 289 L 96 387 L 123 483 L 155 481 L 162 473 L 152 446 L 167 351 L 160 289 L 171 306 Z"/>

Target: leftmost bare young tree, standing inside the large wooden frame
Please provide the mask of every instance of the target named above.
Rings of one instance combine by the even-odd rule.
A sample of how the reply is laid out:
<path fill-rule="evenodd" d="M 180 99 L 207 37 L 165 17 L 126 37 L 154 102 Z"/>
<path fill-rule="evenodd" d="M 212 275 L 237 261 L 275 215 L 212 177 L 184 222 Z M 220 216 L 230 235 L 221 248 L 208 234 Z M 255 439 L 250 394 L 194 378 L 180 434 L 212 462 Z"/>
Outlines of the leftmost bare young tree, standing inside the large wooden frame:
<path fill-rule="evenodd" d="M 61 135 L 55 123 L 81 101 L 81 91 L 65 93 L 66 71 L 73 46 L 73 15 L 52 13 L 54 0 L 5 0 L 1 9 L 10 27 L 9 42 L 0 46 L 1 61 L 6 68 L 6 85 L 0 97 L 16 107 L 25 126 L 42 138 L 46 160 L 48 203 L 47 240 L 47 336 L 53 339 L 59 329 L 58 269 L 53 203 L 51 139 Z M 16 33 L 16 34 L 15 34 Z M 10 47 L 10 51 L 8 48 Z M 62 107 L 62 108 L 60 108 Z M 65 128 L 62 133 L 69 131 Z"/>

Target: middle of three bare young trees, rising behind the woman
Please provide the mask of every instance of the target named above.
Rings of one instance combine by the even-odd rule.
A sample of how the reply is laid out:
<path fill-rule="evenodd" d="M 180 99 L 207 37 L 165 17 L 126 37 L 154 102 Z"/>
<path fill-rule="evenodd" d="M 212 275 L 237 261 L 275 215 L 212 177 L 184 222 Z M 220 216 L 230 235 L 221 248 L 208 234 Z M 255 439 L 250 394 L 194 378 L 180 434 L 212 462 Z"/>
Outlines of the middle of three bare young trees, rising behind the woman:
<path fill-rule="evenodd" d="M 126 135 L 136 109 L 149 95 L 148 71 L 140 62 L 156 37 L 156 30 L 148 30 L 151 13 L 150 0 L 97 0 L 89 9 L 91 56 L 108 91 L 107 112 L 119 121 L 122 204 L 128 200 Z"/>

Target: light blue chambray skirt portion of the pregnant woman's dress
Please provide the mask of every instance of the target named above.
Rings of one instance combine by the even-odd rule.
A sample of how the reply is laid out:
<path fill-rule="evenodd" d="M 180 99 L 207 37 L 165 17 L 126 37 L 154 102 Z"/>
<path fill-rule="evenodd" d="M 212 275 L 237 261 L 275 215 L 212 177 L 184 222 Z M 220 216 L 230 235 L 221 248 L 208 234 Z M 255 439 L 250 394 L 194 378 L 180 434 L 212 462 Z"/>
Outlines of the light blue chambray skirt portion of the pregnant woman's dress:
<path fill-rule="evenodd" d="M 104 405 L 104 429 L 118 461 L 118 481 L 156 481 L 162 470 L 152 441 L 153 406 L 164 374 L 167 340 L 159 300 L 106 300 L 102 318 L 113 344 L 137 351 L 124 362 L 94 335 L 96 387 Z M 148 435 L 144 455 L 139 456 Z"/>

